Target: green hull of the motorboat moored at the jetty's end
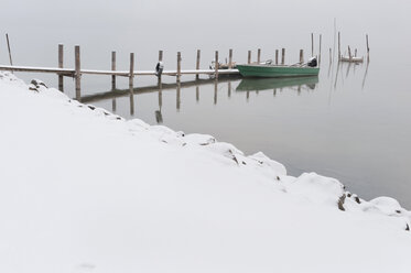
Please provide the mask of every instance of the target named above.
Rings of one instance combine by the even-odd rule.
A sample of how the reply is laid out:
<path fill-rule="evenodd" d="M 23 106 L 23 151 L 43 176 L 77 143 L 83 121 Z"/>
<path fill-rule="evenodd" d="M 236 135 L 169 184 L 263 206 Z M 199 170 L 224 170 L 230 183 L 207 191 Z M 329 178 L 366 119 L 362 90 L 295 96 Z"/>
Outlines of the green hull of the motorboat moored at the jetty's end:
<path fill-rule="evenodd" d="M 296 67 L 282 65 L 237 65 L 237 69 L 244 77 L 280 78 L 317 76 L 318 67 Z"/>

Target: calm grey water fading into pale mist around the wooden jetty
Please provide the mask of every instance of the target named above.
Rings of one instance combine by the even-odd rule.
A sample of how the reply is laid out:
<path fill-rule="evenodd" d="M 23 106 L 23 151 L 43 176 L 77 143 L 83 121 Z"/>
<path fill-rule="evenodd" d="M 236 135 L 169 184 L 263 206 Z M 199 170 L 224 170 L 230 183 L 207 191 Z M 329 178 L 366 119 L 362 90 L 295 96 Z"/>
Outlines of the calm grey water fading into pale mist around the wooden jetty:
<path fill-rule="evenodd" d="M 291 83 L 202 77 L 201 84 L 181 88 L 153 88 L 156 78 L 136 77 L 137 91 L 110 92 L 109 76 L 83 76 L 84 102 L 104 107 L 127 119 L 164 124 L 186 133 L 199 132 L 234 143 L 246 154 L 262 151 L 285 165 L 289 174 L 316 172 L 335 177 L 348 190 L 370 199 L 391 196 L 411 208 L 411 19 L 408 1 L 127 1 L 97 4 L 74 0 L 2 1 L 1 36 L 8 32 L 14 65 L 57 65 L 57 44 L 65 45 L 65 66 L 74 65 L 74 45 L 82 46 L 84 68 L 109 69 L 110 52 L 117 51 L 118 69 L 128 69 L 136 53 L 136 69 L 153 69 L 158 51 L 164 51 L 165 69 L 193 69 L 196 50 L 202 68 L 214 51 L 224 61 L 245 63 L 247 51 L 262 50 L 262 59 L 286 48 L 285 62 L 295 63 L 299 50 L 311 55 L 311 33 L 321 73 L 316 79 Z M 28 23 L 30 22 L 30 24 Z M 370 62 L 349 65 L 336 62 L 336 31 L 342 51 L 349 45 L 366 55 L 369 34 Z M 1 37 L 0 36 L 0 37 Z M 8 64 L 6 43 L 0 42 L 0 63 Z M 332 48 L 332 59 L 329 59 Z M 55 75 L 18 73 L 24 80 L 41 78 L 57 86 Z M 184 76 L 183 81 L 193 80 Z M 175 83 L 163 77 L 164 84 Z M 118 78 L 118 89 L 128 79 Z M 73 80 L 65 92 L 74 97 Z M 104 149 L 104 148 L 101 148 Z"/>

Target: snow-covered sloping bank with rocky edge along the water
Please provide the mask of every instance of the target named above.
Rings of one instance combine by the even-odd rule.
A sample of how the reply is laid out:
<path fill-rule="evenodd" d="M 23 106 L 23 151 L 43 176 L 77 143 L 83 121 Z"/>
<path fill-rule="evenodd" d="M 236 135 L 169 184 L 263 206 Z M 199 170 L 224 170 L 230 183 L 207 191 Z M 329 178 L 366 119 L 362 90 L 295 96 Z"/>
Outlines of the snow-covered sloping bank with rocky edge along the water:
<path fill-rule="evenodd" d="M 8 73 L 0 128 L 0 272 L 411 272 L 392 198 Z"/>

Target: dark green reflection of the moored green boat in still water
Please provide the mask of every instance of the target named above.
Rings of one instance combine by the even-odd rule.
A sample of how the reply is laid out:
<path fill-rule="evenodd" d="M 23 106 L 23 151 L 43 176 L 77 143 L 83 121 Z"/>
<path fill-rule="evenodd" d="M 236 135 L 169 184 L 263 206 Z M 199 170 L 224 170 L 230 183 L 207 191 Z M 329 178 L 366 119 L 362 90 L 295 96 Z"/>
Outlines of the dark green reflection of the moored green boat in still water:
<path fill-rule="evenodd" d="M 269 90 L 275 88 L 307 86 L 311 89 L 315 88 L 318 83 L 318 77 L 292 77 L 292 78 L 244 78 L 237 86 L 237 91 L 253 91 Z"/>

